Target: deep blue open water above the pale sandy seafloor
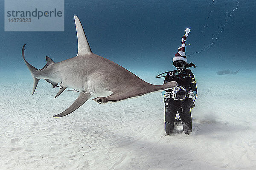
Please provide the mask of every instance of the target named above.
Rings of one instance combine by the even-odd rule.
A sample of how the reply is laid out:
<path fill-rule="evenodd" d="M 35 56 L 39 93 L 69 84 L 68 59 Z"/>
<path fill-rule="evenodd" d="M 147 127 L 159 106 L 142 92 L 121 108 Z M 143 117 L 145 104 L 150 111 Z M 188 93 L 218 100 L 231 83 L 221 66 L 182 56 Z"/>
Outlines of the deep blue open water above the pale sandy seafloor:
<path fill-rule="evenodd" d="M 195 74 L 230 68 L 255 71 L 256 3 L 253 0 L 65 0 L 65 31 L 5 32 L 4 3 L 0 2 L 1 77 L 29 75 L 26 59 L 42 68 L 45 56 L 60 62 L 76 56 L 73 16 L 84 27 L 95 54 L 111 59 L 135 74 L 157 75 L 175 69 L 172 57 L 185 28 L 188 62 Z"/>

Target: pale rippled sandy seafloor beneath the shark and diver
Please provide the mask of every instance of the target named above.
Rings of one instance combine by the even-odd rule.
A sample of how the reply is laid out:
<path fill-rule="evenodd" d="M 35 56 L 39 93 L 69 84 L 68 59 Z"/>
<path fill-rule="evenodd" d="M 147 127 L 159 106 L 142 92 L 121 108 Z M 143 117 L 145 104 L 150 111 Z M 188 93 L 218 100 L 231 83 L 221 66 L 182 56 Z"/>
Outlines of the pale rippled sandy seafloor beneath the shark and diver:
<path fill-rule="evenodd" d="M 140 76 L 161 84 L 155 75 Z M 0 79 L 0 170 L 255 170 L 255 73 L 195 75 L 193 132 L 165 136 L 160 92 L 99 105 L 44 80 Z"/>

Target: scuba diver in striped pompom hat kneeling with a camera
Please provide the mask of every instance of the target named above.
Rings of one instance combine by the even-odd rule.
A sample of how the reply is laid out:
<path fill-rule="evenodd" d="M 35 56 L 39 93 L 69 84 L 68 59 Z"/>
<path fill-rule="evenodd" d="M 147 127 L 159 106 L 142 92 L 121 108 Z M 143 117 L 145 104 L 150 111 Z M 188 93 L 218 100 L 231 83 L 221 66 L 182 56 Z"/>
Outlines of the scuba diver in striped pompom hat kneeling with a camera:
<path fill-rule="evenodd" d="M 178 52 L 172 59 L 177 70 L 165 72 L 167 75 L 164 84 L 171 81 L 176 81 L 178 84 L 176 88 L 162 91 L 165 103 L 165 132 L 167 135 L 174 133 L 174 125 L 178 122 L 178 119 L 175 119 L 177 113 L 180 116 L 184 133 L 189 135 L 192 132 L 190 109 L 195 107 L 193 97 L 196 97 L 197 88 L 194 74 L 187 68 L 192 66 L 195 68 L 196 66 L 192 62 L 187 63 L 185 42 L 190 32 L 189 28 L 186 28 L 185 32 L 186 34 L 182 37 L 182 46 L 178 48 Z"/>

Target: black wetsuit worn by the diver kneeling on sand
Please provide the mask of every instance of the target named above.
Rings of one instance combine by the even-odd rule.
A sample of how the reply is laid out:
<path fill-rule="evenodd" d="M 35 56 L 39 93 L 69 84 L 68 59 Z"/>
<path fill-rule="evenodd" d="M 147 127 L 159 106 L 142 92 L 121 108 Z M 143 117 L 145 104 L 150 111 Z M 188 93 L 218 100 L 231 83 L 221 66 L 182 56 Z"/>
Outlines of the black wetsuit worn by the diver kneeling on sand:
<path fill-rule="evenodd" d="M 191 70 L 184 69 L 183 72 L 178 73 L 177 70 L 167 73 L 164 84 L 166 82 L 175 81 L 178 86 L 186 88 L 186 92 L 197 91 L 195 77 Z M 172 91 L 172 90 L 166 90 Z M 165 131 L 168 135 L 173 133 L 175 116 L 178 111 L 183 125 L 183 131 L 186 134 L 192 132 L 192 119 L 190 107 L 193 105 L 193 99 L 186 97 L 183 100 L 174 100 L 173 98 L 166 99 L 165 102 Z"/>

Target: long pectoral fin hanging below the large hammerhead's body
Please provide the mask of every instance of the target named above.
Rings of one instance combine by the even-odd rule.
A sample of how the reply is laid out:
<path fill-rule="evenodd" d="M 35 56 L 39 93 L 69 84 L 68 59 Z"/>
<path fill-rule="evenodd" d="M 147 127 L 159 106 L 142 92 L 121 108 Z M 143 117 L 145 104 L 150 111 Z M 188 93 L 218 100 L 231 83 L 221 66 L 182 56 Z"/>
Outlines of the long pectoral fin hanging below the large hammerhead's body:
<path fill-rule="evenodd" d="M 75 100 L 75 102 L 73 102 L 72 105 L 70 105 L 69 108 L 67 108 L 62 113 L 57 114 L 53 117 L 62 117 L 72 113 L 73 111 L 78 109 L 81 105 L 83 105 L 88 99 L 90 99 L 90 97 L 91 97 L 91 94 L 89 92 L 81 92 L 78 98 Z"/>

